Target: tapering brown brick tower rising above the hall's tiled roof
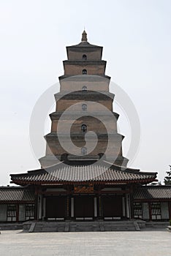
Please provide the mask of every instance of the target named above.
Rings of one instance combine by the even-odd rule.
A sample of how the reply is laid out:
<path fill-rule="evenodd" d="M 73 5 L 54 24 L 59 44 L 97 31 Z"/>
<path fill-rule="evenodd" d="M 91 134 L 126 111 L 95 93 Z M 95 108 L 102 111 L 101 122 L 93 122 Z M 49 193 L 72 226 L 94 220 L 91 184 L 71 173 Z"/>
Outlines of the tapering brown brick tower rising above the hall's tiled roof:
<path fill-rule="evenodd" d="M 123 136 L 117 132 L 118 114 L 113 112 L 115 95 L 109 92 L 110 77 L 105 75 L 106 61 L 102 60 L 102 47 L 87 42 L 86 31 L 83 31 L 80 44 L 66 47 L 66 50 L 68 59 L 64 61 L 64 75 L 59 77 L 61 89 L 55 95 L 56 112 L 50 114 L 52 128 L 45 136 L 47 149 L 45 157 L 39 159 L 41 166 L 54 165 L 57 159 L 96 160 L 106 151 L 105 159 L 126 166 L 128 159 L 122 155 Z M 62 124 L 58 126 L 61 116 Z M 69 124 L 72 127 L 67 138 Z M 90 148 L 86 148 L 85 135 L 89 131 L 93 131 L 97 138 L 89 135 Z M 67 151 L 61 146 L 59 136 Z M 70 139 L 78 147 L 75 151 L 74 145 L 70 146 Z M 91 151 L 96 139 L 98 143 Z M 108 150 L 107 144 L 110 147 Z"/>

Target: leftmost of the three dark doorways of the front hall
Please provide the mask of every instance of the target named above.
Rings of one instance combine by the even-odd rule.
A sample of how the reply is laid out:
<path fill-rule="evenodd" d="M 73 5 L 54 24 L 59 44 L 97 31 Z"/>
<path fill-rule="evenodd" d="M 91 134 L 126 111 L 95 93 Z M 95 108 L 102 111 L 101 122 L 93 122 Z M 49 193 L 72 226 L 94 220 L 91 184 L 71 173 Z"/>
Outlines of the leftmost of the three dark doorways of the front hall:
<path fill-rule="evenodd" d="M 47 219 L 64 219 L 66 217 L 66 196 L 47 196 L 45 217 Z"/>

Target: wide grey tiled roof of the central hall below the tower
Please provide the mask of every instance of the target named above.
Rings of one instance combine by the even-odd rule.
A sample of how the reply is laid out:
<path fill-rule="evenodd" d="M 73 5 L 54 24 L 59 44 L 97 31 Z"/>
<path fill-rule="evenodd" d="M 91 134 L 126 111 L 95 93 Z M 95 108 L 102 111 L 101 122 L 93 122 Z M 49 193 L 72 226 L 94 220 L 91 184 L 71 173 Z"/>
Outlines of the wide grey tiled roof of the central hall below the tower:
<path fill-rule="evenodd" d="M 145 173 L 134 170 L 117 170 L 102 165 L 67 165 L 54 166 L 46 170 L 34 170 L 28 173 L 11 175 L 16 184 L 31 184 L 45 182 L 143 182 L 154 180 L 156 173 Z"/>

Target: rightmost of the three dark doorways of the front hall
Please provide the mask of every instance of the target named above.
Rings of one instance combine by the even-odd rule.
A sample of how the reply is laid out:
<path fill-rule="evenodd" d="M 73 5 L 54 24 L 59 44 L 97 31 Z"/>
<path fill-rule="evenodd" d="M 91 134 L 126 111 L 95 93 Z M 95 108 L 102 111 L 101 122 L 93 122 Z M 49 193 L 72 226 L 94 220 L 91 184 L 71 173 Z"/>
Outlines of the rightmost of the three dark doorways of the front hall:
<path fill-rule="evenodd" d="M 104 219 L 121 219 L 123 217 L 122 195 L 103 195 L 102 215 Z"/>

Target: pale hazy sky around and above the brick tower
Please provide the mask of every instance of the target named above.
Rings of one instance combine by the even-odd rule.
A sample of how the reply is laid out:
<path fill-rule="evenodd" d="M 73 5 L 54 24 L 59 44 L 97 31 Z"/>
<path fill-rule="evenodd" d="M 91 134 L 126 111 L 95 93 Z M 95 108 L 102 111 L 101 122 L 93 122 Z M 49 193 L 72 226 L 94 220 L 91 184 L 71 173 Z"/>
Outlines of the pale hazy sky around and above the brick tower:
<path fill-rule="evenodd" d="M 80 42 L 84 27 L 88 42 L 103 46 L 106 75 L 129 95 L 140 119 L 140 147 L 130 167 L 158 172 L 159 181 L 169 170 L 171 1 L 0 0 L 0 185 L 9 184 L 10 173 L 39 168 L 29 139 L 31 113 L 64 74 L 65 47 Z M 114 104 L 114 110 L 126 156 L 130 131 L 121 108 Z"/>

